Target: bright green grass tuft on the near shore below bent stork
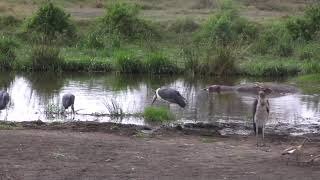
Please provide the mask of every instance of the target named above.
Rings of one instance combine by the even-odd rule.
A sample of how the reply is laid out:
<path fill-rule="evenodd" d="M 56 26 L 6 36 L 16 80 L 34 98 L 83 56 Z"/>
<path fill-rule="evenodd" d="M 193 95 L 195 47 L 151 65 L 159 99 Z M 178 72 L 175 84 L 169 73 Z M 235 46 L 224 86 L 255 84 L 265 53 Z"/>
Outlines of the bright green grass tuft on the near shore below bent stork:
<path fill-rule="evenodd" d="M 164 107 L 147 107 L 143 112 L 143 117 L 146 121 L 161 123 L 175 119 L 170 110 Z"/>

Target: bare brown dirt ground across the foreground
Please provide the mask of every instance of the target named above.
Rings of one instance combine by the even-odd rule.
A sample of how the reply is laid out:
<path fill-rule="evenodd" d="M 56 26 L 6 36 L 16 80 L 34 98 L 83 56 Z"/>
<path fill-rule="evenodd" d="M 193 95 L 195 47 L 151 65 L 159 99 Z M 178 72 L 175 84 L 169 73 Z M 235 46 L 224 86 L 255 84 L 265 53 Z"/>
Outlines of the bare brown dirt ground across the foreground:
<path fill-rule="evenodd" d="M 85 130 L 85 129 L 83 129 Z M 281 151 L 301 138 L 186 135 L 117 131 L 0 131 L 0 179 L 319 179 L 320 163 L 296 163 Z M 80 130 L 82 131 L 82 130 Z M 129 128 L 130 132 L 130 128 Z M 131 131 L 133 132 L 133 131 Z M 305 158 L 320 153 L 314 137 Z"/>

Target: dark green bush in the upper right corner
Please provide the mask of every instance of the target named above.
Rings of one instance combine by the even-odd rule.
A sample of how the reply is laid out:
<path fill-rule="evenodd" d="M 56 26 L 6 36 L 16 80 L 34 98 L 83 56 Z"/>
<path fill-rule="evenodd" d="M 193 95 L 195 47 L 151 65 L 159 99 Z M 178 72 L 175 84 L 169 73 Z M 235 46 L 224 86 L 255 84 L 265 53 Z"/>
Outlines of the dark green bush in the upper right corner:
<path fill-rule="evenodd" d="M 303 17 L 289 19 L 286 26 L 294 39 L 314 39 L 320 30 L 320 4 L 308 7 Z"/>

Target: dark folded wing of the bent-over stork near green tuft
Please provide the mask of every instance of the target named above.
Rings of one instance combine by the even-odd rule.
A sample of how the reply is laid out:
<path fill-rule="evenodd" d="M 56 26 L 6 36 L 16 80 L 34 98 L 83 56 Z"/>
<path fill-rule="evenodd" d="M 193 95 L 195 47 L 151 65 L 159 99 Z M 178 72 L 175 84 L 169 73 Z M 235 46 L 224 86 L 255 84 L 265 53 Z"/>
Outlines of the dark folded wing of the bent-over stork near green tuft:
<path fill-rule="evenodd" d="M 179 93 L 179 91 L 175 90 L 175 89 L 171 89 L 171 88 L 161 88 L 158 91 L 159 96 L 166 100 L 169 101 L 171 103 L 176 103 L 181 107 L 185 107 L 186 106 L 186 102 L 184 97 L 181 96 L 181 94 Z"/>

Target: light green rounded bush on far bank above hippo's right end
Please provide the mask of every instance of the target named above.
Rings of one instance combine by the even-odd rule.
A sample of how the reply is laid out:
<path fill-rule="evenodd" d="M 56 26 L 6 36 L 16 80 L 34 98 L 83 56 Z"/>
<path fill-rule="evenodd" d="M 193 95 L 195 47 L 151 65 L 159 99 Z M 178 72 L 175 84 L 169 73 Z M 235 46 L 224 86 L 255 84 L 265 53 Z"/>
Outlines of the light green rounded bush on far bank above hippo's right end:
<path fill-rule="evenodd" d="M 259 54 L 273 54 L 288 57 L 293 54 L 293 39 L 284 24 L 274 23 L 264 28 L 254 43 L 254 51 Z"/>

